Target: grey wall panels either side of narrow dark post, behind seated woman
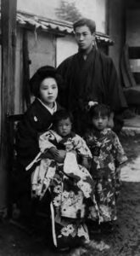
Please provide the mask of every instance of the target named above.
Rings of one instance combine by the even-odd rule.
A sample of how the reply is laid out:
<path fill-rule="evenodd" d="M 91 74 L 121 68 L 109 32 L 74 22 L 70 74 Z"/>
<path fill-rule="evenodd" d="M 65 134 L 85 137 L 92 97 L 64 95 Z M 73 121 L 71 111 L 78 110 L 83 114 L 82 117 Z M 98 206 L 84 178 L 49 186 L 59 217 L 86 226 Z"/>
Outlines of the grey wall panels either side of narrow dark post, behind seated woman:
<path fill-rule="evenodd" d="M 16 63 L 15 63 L 15 88 L 14 88 L 14 113 L 23 113 L 25 104 L 23 101 L 23 30 L 17 29 Z M 37 68 L 52 65 L 55 66 L 56 46 L 55 36 L 44 32 L 33 32 L 26 30 L 29 49 L 30 77 Z"/>

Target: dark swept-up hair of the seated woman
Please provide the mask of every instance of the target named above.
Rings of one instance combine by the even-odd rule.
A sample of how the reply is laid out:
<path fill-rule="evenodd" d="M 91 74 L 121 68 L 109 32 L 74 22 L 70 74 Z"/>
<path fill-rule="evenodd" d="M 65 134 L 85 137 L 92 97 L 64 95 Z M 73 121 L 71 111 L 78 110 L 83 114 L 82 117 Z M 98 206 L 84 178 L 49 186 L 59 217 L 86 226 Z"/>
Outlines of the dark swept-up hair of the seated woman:
<path fill-rule="evenodd" d="M 48 79 L 48 78 L 53 78 L 56 80 L 56 83 L 62 84 L 62 78 L 61 76 L 57 73 L 57 70 L 55 67 L 52 66 L 44 66 L 40 67 L 37 69 L 36 73 L 32 76 L 30 79 L 30 88 L 31 88 L 31 94 L 39 97 L 39 90 L 40 90 L 40 85 L 42 83 L 43 79 Z"/>

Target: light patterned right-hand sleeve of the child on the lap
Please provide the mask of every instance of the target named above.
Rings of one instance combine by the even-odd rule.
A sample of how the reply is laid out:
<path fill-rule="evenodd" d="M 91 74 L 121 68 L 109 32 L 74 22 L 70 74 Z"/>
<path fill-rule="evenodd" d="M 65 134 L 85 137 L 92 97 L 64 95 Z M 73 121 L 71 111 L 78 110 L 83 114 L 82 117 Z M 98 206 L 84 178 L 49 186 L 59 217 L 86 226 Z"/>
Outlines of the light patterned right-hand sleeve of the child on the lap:
<path fill-rule="evenodd" d="M 73 138 L 74 141 L 74 149 L 77 150 L 78 154 L 81 154 L 82 156 L 92 158 L 92 153 L 90 149 L 87 147 L 87 143 L 83 138 L 81 138 L 79 135 L 76 135 L 76 137 Z"/>

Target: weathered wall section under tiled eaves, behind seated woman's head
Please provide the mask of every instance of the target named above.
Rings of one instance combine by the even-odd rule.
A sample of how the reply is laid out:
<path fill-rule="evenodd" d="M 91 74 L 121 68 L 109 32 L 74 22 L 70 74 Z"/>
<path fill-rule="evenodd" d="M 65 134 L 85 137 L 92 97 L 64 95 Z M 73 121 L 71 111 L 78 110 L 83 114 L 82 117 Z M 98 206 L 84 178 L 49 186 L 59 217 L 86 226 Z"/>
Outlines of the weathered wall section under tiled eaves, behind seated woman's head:
<path fill-rule="evenodd" d="M 55 46 L 53 34 L 17 26 L 14 114 L 24 113 L 30 105 L 29 78 L 37 68 L 55 66 Z M 31 97 L 32 101 L 32 97 Z"/>

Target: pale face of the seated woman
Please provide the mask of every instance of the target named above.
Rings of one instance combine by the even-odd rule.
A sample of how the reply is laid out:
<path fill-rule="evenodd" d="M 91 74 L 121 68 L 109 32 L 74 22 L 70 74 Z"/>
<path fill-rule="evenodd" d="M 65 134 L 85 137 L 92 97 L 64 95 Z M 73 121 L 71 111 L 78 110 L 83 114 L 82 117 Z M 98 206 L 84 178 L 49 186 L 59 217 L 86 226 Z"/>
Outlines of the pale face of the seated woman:
<path fill-rule="evenodd" d="M 43 79 L 40 85 L 40 99 L 49 108 L 53 108 L 53 103 L 58 96 L 58 84 L 53 78 Z"/>

